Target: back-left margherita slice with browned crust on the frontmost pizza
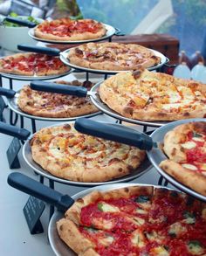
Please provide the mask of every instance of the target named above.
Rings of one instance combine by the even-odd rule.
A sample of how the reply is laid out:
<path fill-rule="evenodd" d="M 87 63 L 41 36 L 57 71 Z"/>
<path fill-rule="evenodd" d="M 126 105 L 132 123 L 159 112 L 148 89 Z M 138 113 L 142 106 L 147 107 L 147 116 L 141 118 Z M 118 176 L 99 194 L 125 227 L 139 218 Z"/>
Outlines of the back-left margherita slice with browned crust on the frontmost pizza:
<path fill-rule="evenodd" d="M 93 191 L 73 204 L 65 218 L 97 229 L 131 232 L 147 222 L 152 192 L 152 187 Z"/>

